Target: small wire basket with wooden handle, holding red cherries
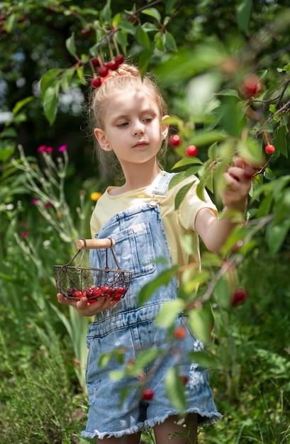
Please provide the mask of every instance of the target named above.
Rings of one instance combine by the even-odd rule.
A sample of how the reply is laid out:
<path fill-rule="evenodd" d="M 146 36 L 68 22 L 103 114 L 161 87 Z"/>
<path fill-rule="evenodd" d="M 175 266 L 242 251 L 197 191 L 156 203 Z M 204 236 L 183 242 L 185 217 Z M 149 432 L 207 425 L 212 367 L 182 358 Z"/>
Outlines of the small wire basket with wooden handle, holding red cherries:
<path fill-rule="evenodd" d="M 86 296 L 88 301 L 96 301 L 101 297 L 113 300 L 123 299 L 132 278 L 132 272 L 122 270 L 113 252 L 113 239 L 80 239 L 77 241 L 79 250 L 66 265 L 55 265 L 55 283 L 57 292 L 69 299 L 80 299 Z M 104 268 L 82 267 L 84 252 L 89 248 L 106 248 L 106 266 Z M 79 265 L 72 262 L 82 251 Z M 116 268 L 108 267 L 108 255 L 112 255 Z"/>

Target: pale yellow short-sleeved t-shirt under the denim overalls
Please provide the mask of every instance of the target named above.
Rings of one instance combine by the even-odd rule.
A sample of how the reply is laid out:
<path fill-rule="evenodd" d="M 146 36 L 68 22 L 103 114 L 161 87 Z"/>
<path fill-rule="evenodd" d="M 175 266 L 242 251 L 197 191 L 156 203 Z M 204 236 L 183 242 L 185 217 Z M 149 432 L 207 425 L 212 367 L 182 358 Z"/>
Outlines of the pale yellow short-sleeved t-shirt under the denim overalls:
<path fill-rule="evenodd" d="M 169 250 L 174 264 L 186 265 L 189 260 L 195 260 L 199 263 L 199 237 L 195 231 L 194 223 L 196 214 L 203 208 L 211 209 L 215 214 L 218 213 L 216 206 L 213 204 L 208 194 L 204 193 L 204 201 L 199 199 L 196 194 L 196 186 L 199 179 L 195 176 L 188 177 L 171 189 L 167 189 L 164 196 L 152 194 L 160 172 L 155 180 L 148 187 L 134 189 L 133 191 L 111 196 L 108 192 L 113 187 L 108 187 L 106 192 L 96 202 L 96 206 L 91 215 L 91 237 L 94 238 L 99 233 L 101 227 L 109 218 L 121 211 L 130 209 L 135 205 L 149 204 L 150 201 L 158 201 L 160 205 L 160 216 L 164 225 L 164 231 L 167 236 Z M 189 192 L 186 193 L 179 209 L 174 209 L 174 199 L 179 189 L 184 187 L 186 183 L 194 182 Z M 194 255 L 189 259 L 189 254 L 182 249 L 180 238 L 182 235 L 191 234 L 194 245 Z"/>

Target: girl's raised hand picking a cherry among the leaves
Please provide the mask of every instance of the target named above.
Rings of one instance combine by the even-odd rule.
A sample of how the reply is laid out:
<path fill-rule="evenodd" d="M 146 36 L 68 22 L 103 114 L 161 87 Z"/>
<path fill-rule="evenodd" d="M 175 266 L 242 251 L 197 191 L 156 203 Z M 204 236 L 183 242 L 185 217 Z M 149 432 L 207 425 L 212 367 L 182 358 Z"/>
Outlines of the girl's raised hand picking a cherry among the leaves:
<path fill-rule="evenodd" d="M 223 174 L 227 185 L 222 196 L 225 210 L 245 211 L 254 171 L 254 168 L 239 157 L 235 160 L 234 165 Z"/>

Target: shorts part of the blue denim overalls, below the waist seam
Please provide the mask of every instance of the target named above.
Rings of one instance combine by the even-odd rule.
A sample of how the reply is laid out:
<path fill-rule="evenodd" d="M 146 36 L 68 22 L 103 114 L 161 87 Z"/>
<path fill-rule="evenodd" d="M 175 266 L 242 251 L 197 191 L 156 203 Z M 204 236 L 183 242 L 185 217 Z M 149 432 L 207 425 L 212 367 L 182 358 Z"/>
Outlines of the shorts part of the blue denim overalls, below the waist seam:
<path fill-rule="evenodd" d="M 186 326 L 184 321 L 184 316 L 179 316 L 176 326 Z M 142 321 L 142 309 L 136 314 L 135 323 L 131 322 L 128 326 L 128 320 L 124 319 L 123 326 L 119 325 L 109 332 L 106 329 L 105 334 L 101 331 L 101 326 L 91 323 L 87 335 L 89 415 L 82 436 L 120 438 L 138 431 L 147 431 L 169 416 L 179 414 L 169 401 L 164 387 L 164 375 L 174 363 L 178 363 L 179 374 L 187 380 L 186 413 L 197 414 L 199 425 L 212 424 L 222 418 L 216 410 L 208 385 L 208 370 L 189 360 L 188 353 L 203 350 L 203 344 L 192 335 L 187 326 L 186 328 L 184 340 L 177 340 L 169 353 L 160 353 L 162 359 L 157 358 L 156 362 L 145 368 L 145 387 L 152 389 L 154 396 L 149 401 L 142 401 L 140 377 L 113 379 L 110 372 L 122 371 L 127 362 L 135 359 L 137 350 L 152 348 L 152 344 L 164 350 L 168 346 L 168 332 L 156 328 L 154 320 Z M 116 348 L 123 350 L 122 362 L 113 358 L 105 367 L 101 367 L 101 353 L 109 353 Z"/>

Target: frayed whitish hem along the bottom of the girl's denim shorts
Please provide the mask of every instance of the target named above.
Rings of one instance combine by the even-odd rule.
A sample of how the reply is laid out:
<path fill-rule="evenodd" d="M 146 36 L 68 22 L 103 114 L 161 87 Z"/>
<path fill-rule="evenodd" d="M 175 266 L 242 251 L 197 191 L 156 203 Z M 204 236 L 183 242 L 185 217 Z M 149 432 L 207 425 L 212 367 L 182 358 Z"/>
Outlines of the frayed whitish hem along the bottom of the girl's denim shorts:
<path fill-rule="evenodd" d="M 186 411 L 186 414 L 198 414 L 199 427 L 210 426 L 216 423 L 217 421 L 220 421 L 223 418 L 223 415 L 219 414 L 218 412 L 206 415 L 206 414 L 201 414 L 201 412 L 198 409 L 189 409 L 189 411 Z M 138 432 L 149 431 L 150 428 L 154 428 L 155 426 L 164 423 L 164 421 L 166 421 L 167 418 L 174 415 L 178 415 L 178 412 L 177 411 L 170 412 L 169 414 L 162 416 L 162 418 L 156 417 L 152 419 L 146 419 L 144 423 L 139 423 L 134 427 L 130 427 L 118 432 L 99 432 L 95 430 L 93 433 L 90 433 L 87 431 L 82 431 L 81 435 L 83 438 L 91 438 L 91 439 L 98 438 L 100 440 L 104 438 L 121 438 L 123 435 L 134 435 L 135 433 Z M 182 418 L 180 419 L 180 421 L 182 422 Z"/>

